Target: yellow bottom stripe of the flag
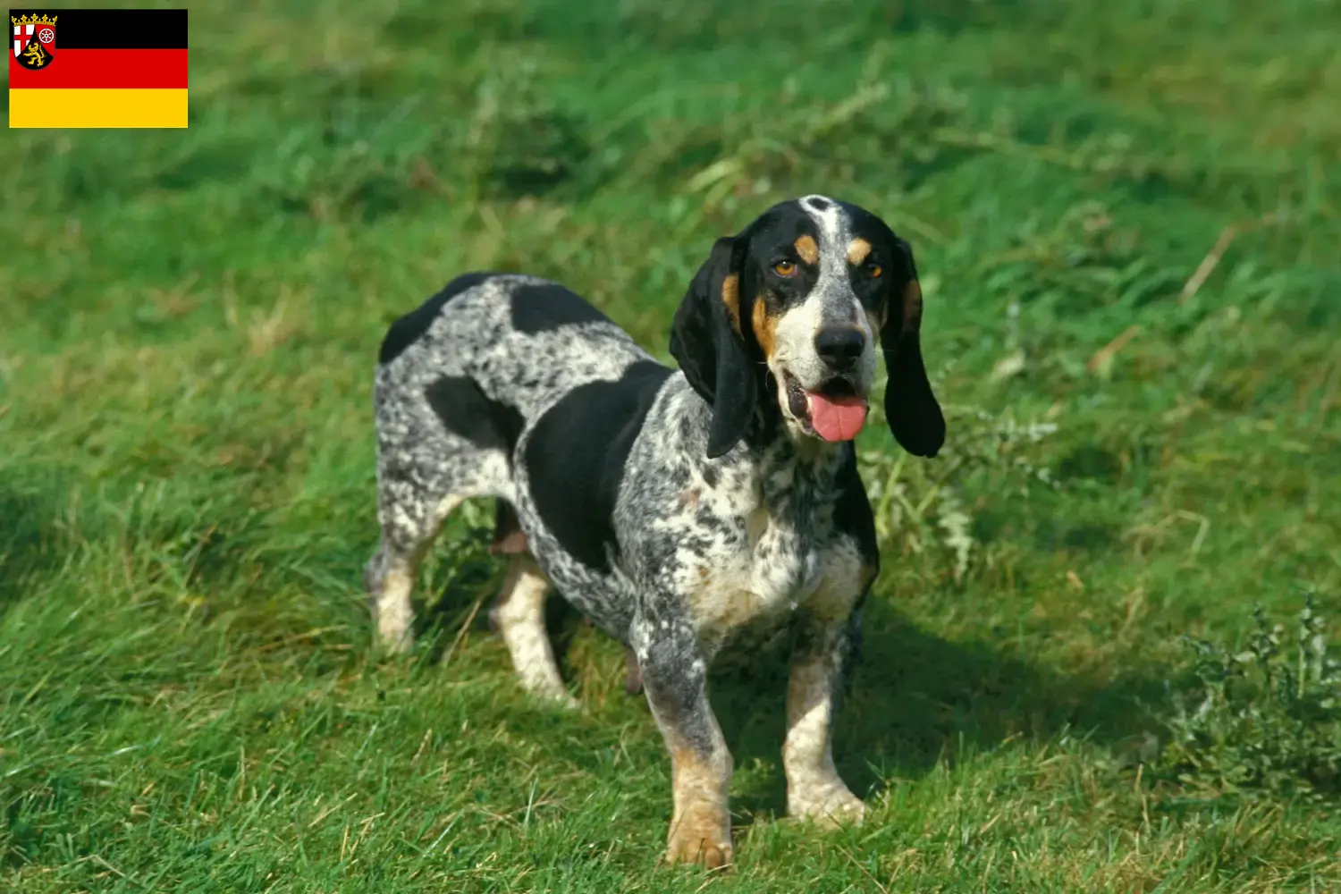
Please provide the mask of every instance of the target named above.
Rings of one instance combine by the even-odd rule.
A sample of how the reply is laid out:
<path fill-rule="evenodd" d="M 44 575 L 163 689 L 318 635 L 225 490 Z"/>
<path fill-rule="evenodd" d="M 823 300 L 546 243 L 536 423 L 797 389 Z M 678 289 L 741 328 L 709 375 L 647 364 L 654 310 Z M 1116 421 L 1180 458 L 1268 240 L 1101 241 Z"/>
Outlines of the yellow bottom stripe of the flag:
<path fill-rule="evenodd" d="M 185 90 L 11 90 L 11 127 L 185 127 Z"/>

